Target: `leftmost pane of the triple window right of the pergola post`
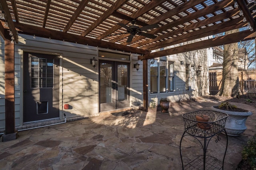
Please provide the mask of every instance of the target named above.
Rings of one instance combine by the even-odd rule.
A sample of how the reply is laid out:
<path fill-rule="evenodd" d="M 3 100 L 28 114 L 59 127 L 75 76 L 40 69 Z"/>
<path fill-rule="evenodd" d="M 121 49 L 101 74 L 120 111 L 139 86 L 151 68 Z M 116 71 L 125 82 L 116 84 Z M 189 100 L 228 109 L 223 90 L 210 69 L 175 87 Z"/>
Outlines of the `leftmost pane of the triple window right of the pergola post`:
<path fill-rule="evenodd" d="M 150 59 L 150 93 L 158 92 L 158 62 Z"/>

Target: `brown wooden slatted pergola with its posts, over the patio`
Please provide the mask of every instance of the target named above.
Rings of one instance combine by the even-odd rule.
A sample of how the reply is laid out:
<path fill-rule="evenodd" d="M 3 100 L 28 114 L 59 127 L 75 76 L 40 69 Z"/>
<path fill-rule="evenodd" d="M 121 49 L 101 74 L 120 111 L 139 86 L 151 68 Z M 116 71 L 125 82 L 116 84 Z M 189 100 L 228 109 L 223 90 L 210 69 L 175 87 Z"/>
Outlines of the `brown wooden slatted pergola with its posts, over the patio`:
<path fill-rule="evenodd" d="M 6 134 L 15 129 L 12 40 L 18 43 L 18 33 L 140 54 L 144 108 L 148 106 L 147 59 L 256 37 L 254 0 L 1 0 L 0 5 L 0 35 L 5 40 Z M 156 38 L 135 35 L 127 43 L 130 33 L 117 23 L 129 26 L 132 20 L 138 27 L 158 24 L 158 28 L 147 31 Z M 248 23 L 247 30 L 212 36 Z M 199 40 L 203 37 L 208 38 Z M 186 45 L 171 48 L 184 42 Z"/>

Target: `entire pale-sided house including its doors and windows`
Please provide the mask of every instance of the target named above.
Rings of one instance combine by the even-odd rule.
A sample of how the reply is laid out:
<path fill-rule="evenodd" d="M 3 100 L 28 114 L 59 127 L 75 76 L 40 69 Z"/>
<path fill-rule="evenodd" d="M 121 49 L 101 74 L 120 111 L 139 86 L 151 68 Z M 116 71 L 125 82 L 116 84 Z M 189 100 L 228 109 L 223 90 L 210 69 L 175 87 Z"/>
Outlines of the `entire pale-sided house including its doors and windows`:
<path fill-rule="evenodd" d="M 17 129 L 143 106 L 138 55 L 19 34 L 15 44 Z M 0 132 L 5 127 L 4 41 L 0 53 Z M 208 49 L 148 60 L 148 101 L 196 98 L 208 91 Z M 91 59 L 98 62 L 95 67 Z M 140 64 L 139 70 L 134 64 Z M 159 102 L 158 102 L 159 103 Z"/>

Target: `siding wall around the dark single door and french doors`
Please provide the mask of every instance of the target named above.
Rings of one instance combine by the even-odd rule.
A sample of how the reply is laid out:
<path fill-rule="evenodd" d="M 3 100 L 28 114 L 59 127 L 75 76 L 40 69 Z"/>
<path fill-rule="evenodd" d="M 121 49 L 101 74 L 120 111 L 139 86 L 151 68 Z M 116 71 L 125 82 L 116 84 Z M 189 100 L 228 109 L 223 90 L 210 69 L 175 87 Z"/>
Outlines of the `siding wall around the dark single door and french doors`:
<path fill-rule="evenodd" d="M 5 127 L 4 109 L 4 40 L 0 51 L 0 129 Z M 98 48 L 64 41 L 50 40 L 30 35 L 19 36 L 15 44 L 15 124 L 23 124 L 23 52 L 60 55 L 60 118 L 92 117 L 98 113 L 98 66 L 90 64 L 90 59 L 98 59 Z M 106 49 L 105 49 L 106 50 Z M 111 52 L 111 50 L 109 50 Z M 114 51 L 117 53 L 118 51 Z M 124 53 L 124 52 L 118 52 Z M 130 106 L 139 108 L 143 104 L 142 61 L 137 54 L 131 56 L 130 63 Z M 138 62 L 140 70 L 133 64 Z M 69 104 L 71 109 L 64 109 Z"/>

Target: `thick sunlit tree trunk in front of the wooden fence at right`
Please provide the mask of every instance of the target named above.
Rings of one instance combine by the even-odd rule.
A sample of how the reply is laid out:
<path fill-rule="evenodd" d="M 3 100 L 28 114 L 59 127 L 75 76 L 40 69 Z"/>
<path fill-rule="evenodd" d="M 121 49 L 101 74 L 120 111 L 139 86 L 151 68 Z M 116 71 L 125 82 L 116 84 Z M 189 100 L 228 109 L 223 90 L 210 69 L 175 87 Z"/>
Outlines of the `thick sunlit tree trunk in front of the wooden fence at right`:
<path fill-rule="evenodd" d="M 238 32 L 239 29 L 227 31 L 227 34 Z M 224 45 L 222 84 L 220 96 L 240 96 L 238 79 L 238 43 Z"/>

